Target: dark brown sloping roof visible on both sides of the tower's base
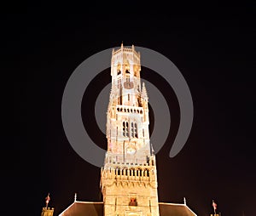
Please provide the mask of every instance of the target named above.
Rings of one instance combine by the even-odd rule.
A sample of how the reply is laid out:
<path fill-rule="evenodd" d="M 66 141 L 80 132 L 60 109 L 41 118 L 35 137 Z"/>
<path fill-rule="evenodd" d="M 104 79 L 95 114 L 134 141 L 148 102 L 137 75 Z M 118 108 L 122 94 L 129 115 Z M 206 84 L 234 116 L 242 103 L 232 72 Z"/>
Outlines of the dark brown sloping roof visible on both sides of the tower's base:
<path fill-rule="evenodd" d="M 103 202 L 73 202 L 60 216 L 103 216 Z M 159 203 L 160 216 L 196 216 L 186 204 Z"/>

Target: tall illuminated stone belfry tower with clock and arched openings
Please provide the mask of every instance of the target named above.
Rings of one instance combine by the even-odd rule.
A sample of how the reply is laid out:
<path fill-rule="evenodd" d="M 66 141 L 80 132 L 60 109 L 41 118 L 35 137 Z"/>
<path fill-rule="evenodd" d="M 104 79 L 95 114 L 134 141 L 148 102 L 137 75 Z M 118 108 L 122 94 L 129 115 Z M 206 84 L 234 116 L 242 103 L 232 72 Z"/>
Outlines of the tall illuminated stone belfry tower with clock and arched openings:
<path fill-rule="evenodd" d="M 148 95 L 134 46 L 113 50 L 112 88 L 101 188 L 104 215 L 159 215 L 157 174 L 148 131 Z"/>

